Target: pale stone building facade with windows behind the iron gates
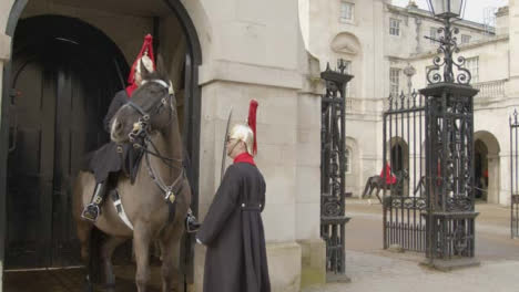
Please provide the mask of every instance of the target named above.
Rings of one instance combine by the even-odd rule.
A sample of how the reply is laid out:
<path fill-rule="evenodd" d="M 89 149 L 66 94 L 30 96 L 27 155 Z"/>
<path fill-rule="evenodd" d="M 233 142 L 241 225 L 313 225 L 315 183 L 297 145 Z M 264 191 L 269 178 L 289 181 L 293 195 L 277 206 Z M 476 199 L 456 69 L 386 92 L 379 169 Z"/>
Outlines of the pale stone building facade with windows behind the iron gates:
<path fill-rule="evenodd" d="M 391 144 L 395 138 L 383 140 L 387 98 L 407 96 L 409 88 L 427 86 L 426 71 L 432 66 L 438 48 L 431 39 L 440 36 L 441 24 L 414 1 L 405 8 L 387 0 L 301 2 L 308 52 L 319 60 L 322 69 L 327 62 L 344 59 L 355 75 L 346 102 L 346 177 L 347 191 L 358 197 L 367 178 L 381 173 L 384 143 Z M 510 11 L 515 6 L 510 1 Z M 495 25 L 466 20 L 455 24 L 459 29 L 459 54 L 471 71 L 472 86 L 480 90 L 475 97 L 475 176 L 480 188 L 477 197 L 502 205 L 509 204 L 510 197 L 508 116 L 517 105 L 512 97 L 517 92 L 512 56 L 518 45 L 511 36 L 513 21 L 505 7 L 497 11 Z M 405 74 L 408 66 L 414 69 L 410 79 Z"/>

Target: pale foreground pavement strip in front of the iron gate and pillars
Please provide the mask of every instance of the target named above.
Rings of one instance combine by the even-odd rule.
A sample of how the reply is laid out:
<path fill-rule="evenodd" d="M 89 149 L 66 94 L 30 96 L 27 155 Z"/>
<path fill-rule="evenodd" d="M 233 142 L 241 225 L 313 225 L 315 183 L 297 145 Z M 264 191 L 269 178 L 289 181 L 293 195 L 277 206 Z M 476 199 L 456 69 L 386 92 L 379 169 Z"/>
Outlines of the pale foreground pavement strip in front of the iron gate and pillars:
<path fill-rule="evenodd" d="M 439 272 L 415 260 L 347 250 L 350 283 L 327 284 L 303 292 L 517 292 L 519 261 L 484 261 L 478 268 Z"/>

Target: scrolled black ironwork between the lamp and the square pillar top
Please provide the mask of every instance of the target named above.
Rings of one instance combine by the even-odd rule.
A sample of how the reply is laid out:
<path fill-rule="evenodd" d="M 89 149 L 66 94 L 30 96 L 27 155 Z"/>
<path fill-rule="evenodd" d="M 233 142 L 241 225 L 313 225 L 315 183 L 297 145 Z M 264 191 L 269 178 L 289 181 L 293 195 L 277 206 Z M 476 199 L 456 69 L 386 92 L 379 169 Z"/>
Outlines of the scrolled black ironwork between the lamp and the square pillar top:
<path fill-rule="evenodd" d="M 432 40 L 439 43 L 438 53 L 441 56 L 436 56 L 432 60 L 434 66 L 427 70 L 427 81 L 429 84 L 437 83 L 459 83 L 468 85 L 472 79 L 470 71 L 465 67 L 465 56 L 455 58 L 454 54 L 459 53 L 456 34 L 459 33 L 458 28 L 452 28 L 452 21 L 447 18 L 444 20 L 445 27 L 438 29 L 439 39 L 425 36 L 426 39 Z M 457 69 L 457 75 L 455 76 L 454 67 Z M 444 67 L 444 74 L 439 73 L 439 70 Z"/>

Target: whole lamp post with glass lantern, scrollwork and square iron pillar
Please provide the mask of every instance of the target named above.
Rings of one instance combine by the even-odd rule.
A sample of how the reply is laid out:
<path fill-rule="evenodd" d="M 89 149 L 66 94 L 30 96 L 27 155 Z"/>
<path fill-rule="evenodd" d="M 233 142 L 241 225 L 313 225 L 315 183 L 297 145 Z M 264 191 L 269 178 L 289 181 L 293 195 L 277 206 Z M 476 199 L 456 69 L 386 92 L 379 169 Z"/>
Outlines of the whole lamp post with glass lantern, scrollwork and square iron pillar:
<path fill-rule="evenodd" d="M 475 258 L 474 103 L 478 90 L 459 53 L 452 25 L 464 0 L 428 0 L 438 29 L 438 53 L 427 72 L 426 96 L 426 264 L 440 270 L 479 264 Z M 428 38 L 430 39 L 430 38 Z M 442 54 L 442 56 L 441 56 Z M 444 74 L 439 69 L 444 67 Z"/>

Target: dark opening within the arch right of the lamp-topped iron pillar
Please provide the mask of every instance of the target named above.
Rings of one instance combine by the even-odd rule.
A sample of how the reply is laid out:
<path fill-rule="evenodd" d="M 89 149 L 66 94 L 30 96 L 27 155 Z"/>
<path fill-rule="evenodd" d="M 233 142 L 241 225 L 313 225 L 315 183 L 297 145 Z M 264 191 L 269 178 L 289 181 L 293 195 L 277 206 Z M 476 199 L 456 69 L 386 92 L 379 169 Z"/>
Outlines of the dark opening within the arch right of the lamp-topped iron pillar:
<path fill-rule="evenodd" d="M 477 139 L 474 143 L 474 176 L 476 182 L 476 199 L 487 200 L 488 195 L 488 148 Z"/>

